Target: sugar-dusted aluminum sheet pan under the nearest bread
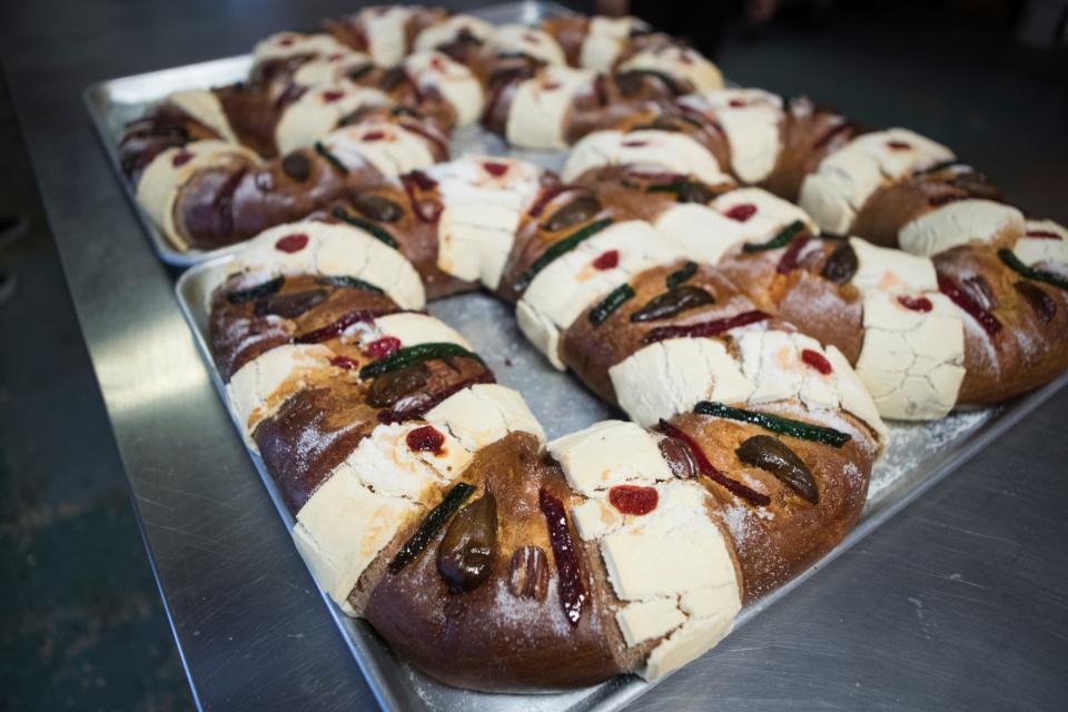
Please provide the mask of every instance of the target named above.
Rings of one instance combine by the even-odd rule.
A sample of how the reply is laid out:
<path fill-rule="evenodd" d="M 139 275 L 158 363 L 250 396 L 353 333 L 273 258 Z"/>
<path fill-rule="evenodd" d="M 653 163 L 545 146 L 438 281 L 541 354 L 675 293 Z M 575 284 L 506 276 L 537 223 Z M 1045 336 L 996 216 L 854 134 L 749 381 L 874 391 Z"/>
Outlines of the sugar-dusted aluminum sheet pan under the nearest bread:
<path fill-rule="evenodd" d="M 178 300 L 220 397 L 226 390 L 207 345 L 211 291 L 220 284 L 230 255 L 216 257 L 186 271 L 176 286 Z M 459 330 L 497 375 L 520 390 L 550 438 L 586 427 L 607 417 L 625 417 L 585 390 L 568 374 L 554 369 L 537 349 L 523 338 L 512 307 L 483 293 L 466 294 L 429 304 L 432 315 Z M 887 453 L 877 463 L 868 503 L 858 526 L 820 562 L 773 594 L 742 611 L 735 626 L 756 615 L 780 596 L 812 576 L 821 566 L 886 522 L 892 514 L 945 477 L 1006 428 L 1018 422 L 1068 383 L 1068 374 L 1045 388 L 1007 406 L 955 413 L 931 424 L 893 424 Z M 233 413 L 231 413 L 233 415 Z M 235 423 L 240 429 L 240 425 Z M 278 513 L 291 530 L 293 517 L 258 455 L 249 456 L 270 492 Z M 363 621 L 349 619 L 326 595 L 342 634 L 353 651 L 379 702 L 388 710 L 538 710 L 586 712 L 620 710 L 653 685 L 634 675 L 621 675 L 601 685 L 553 695 L 507 695 L 468 692 L 435 682 L 396 657 Z M 713 650 L 709 655 L 714 656 Z"/>

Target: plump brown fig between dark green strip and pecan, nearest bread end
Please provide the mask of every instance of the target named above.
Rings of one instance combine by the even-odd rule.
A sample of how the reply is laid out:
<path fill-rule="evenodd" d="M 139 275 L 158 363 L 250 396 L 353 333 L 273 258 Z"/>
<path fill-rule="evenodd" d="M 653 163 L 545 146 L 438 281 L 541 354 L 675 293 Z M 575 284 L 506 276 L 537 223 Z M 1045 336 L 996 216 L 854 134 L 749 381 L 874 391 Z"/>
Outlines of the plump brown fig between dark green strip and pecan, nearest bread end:
<path fill-rule="evenodd" d="M 437 547 L 437 573 L 451 593 L 476 589 L 490 577 L 497 548 L 497 501 L 486 493 L 453 518 Z"/>

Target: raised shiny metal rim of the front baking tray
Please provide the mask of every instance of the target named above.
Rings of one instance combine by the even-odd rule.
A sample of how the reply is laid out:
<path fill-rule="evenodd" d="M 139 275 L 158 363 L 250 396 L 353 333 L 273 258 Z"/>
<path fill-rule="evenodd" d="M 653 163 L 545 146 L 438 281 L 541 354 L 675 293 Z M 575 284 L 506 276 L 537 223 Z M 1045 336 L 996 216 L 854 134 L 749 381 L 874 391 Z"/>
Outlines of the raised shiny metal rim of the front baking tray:
<path fill-rule="evenodd" d="M 199 280 L 206 279 L 211 273 L 220 273 L 221 268 L 233 259 L 233 254 L 217 255 L 208 260 L 192 266 L 190 269 L 181 274 L 176 280 L 175 296 L 181 309 L 182 317 L 186 319 L 186 324 L 189 326 L 190 332 L 192 332 L 191 336 L 196 342 L 197 352 L 200 354 L 201 359 L 205 362 L 206 368 L 210 373 L 211 383 L 215 385 L 219 397 L 222 398 L 224 406 L 230 416 L 230 421 L 238 429 L 238 433 L 241 434 L 243 441 L 245 441 L 244 429 L 237 422 L 236 416 L 229 406 L 226 387 L 222 384 L 218 369 L 215 366 L 215 362 L 211 358 L 211 353 L 207 340 L 205 339 L 205 335 L 201 333 L 201 327 L 196 313 L 198 305 L 192 304 L 188 294 L 188 291 L 192 289 L 191 285 Z M 211 288 L 217 286 L 218 283 L 215 283 L 211 285 Z M 494 298 L 491 295 L 486 295 L 482 290 L 472 294 L 479 294 Z M 466 295 L 457 296 L 462 298 Z M 206 307 L 207 305 L 201 306 Z M 207 313 L 205 313 L 205 317 L 206 316 Z M 1055 394 L 1060 392 L 1066 385 L 1068 385 L 1068 373 L 1061 374 L 1056 379 L 1029 394 L 1020 396 L 1019 398 L 1016 398 L 1007 404 L 1001 404 L 989 408 L 990 415 L 985 422 L 978 424 L 966 434 L 952 438 L 943 448 L 934 454 L 919 461 L 916 467 L 910 468 L 891 486 L 887 487 L 880 495 L 878 495 L 876 501 L 868 500 L 864 504 L 864 508 L 861 512 L 858 523 L 852 530 L 850 530 L 842 541 L 834 546 L 834 548 L 821 556 L 808 568 L 802 571 L 800 574 L 772 593 L 742 609 L 734 620 L 731 632 L 741 629 L 761 612 L 774 605 L 784 596 L 789 595 L 791 591 L 810 581 L 819 571 L 832 563 L 847 551 L 851 550 L 864 537 L 878 530 L 888 521 L 893 518 L 899 512 L 904 510 L 912 502 L 917 501 L 922 494 L 928 492 L 934 485 L 946 479 L 963 463 L 973 457 L 980 451 L 985 449 L 1006 431 L 1017 425 L 1038 406 L 1042 405 Z M 986 408 L 977 408 L 976 411 L 985 409 Z M 891 427 L 893 427 L 893 425 L 891 425 Z M 267 492 L 274 502 L 275 507 L 278 510 L 278 513 L 281 515 L 283 521 L 286 523 L 287 530 L 291 531 L 294 517 L 291 514 L 289 514 L 288 510 L 286 510 L 281 496 L 279 495 L 274 481 L 270 478 L 269 473 L 264 466 L 261 458 L 257 453 L 248 448 L 247 442 L 246 452 L 253 459 L 256 472 L 263 481 L 264 486 L 267 488 Z M 326 603 L 335 624 L 338 626 L 338 632 L 342 634 L 342 637 L 345 639 L 346 646 L 353 653 L 353 656 L 356 657 L 356 663 L 359 666 L 360 672 L 364 674 L 364 678 L 367 681 L 368 686 L 372 689 L 372 692 L 379 705 L 382 705 L 384 710 L 404 710 L 405 706 L 397 704 L 398 698 L 392 689 L 389 681 L 379 672 L 379 661 L 374 659 L 373 653 L 369 650 L 369 641 L 365 640 L 365 636 L 370 636 L 378 644 L 384 645 L 384 643 L 377 637 L 377 634 L 370 629 L 369 624 L 367 624 L 365 621 L 354 620 L 345 615 L 342 610 L 330 600 L 329 595 L 327 595 L 322 586 L 319 586 L 318 582 L 313 578 L 313 583 Z M 349 622 L 354 622 L 358 629 L 358 634 L 355 636 L 348 634 L 346 624 Z M 730 635 L 730 633 L 728 635 Z M 705 655 L 708 654 L 714 654 L 714 649 L 705 653 Z M 364 660 L 364 656 L 366 656 L 367 660 Z M 424 674 L 417 670 L 416 673 Z M 669 676 L 670 674 L 659 681 L 646 682 L 633 674 L 616 675 L 603 683 L 585 689 L 589 694 L 581 698 L 575 705 L 568 708 L 568 712 L 617 712 L 634 700 L 644 695 L 650 690 L 657 686 Z M 429 679 L 429 676 L 427 678 Z M 433 679 L 431 680 L 433 681 Z M 467 690 L 463 690 L 462 692 L 466 694 L 492 694 Z M 504 696 L 507 695 L 504 694 Z M 424 709 L 431 710 L 433 708 L 427 705 Z"/>

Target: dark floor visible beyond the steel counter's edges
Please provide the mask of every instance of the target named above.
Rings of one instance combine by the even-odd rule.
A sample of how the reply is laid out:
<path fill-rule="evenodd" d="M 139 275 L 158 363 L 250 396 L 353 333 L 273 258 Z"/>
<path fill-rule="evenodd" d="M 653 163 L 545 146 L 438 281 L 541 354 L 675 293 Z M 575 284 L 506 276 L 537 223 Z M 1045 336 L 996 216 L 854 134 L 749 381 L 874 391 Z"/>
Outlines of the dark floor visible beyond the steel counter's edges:
<path fill-rule="evenodd" d="M 953 148 L 1037 215 L 1068 220 L 1068 65 L 1021 50 L 997 22 L 917 4 L 778 21 L 731 36 L 720 62 L 743 85 L 807 92 L 860 120 Z M 931 7 L 927 3 L 923 7 Z M 0 211 L 26 210 L 0 251 L 18 279 L 0 304 L 0 712 L 191 705 L 121 465 L 0 87 Z"/>

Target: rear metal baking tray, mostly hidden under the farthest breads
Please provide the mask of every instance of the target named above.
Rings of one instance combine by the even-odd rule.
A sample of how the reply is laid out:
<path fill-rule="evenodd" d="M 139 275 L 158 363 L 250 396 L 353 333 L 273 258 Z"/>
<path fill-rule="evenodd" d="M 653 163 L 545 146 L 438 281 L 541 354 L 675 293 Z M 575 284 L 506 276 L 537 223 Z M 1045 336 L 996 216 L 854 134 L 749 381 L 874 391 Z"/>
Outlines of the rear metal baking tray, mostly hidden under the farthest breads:
<path fill-rule="evenodd" d="M 522 22 L 536 24 L 546 18 L 574 14 L 572 10 L 555 2 L 508 2 L 495 4 L 469 14 L 483 18 L 494 24 L 506 22 Z M 152 248 L 161 260 L 176 267 L 189 267 L 218 255 L 235 251 L 238 246 L 229 245 L 212 250 L 179 249 L 156 227 L 137 202 L 135 189 L 126 180 L 119 165 L 119 141 L 129 121 L 142 116 L 150 106 L 159 102 L 164 97 L 185 89 L 207 89 L 221 85 L 244 81 L 253 66 L 251 55 L 240 55 L 226 59 L 216 59 L 198 65 L 187 65 L 160 71 L 134 75 L 109 79 L 89 86 L 82 93 L 92 123 L 97 129 L 97 137 L 103 145 L 108 160 L 119 177 L 119 182 L 126 191 L 126 197 L 134 206 L 141 227 L 148 236 Z M 510 151 L 504 141 L 477 126 L 468 126 L 453 136 L 451 151 L 453 156 L 465 154 L 488 154 L 514 156 L 541 164 L 552 170 L 558 170 L 563 165 L 561 151 Z M 239 244 L 238 244 L 239 245 Z"/>

